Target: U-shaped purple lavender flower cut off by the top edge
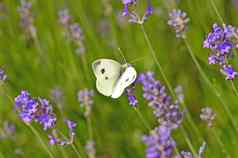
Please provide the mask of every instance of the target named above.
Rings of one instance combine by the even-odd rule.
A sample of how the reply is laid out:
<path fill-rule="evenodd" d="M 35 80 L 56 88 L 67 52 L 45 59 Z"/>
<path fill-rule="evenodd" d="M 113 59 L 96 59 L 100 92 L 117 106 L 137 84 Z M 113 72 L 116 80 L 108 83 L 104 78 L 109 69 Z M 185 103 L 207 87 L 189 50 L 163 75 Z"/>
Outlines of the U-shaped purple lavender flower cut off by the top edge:
<path fill-rule="evenodd" d="M 142 17 L 140 17 L 136 13 L 135 10 L 129 9 L 130 6 L 136 5 L 136 3 L 137 3 L 136 0 L 122 0 L 122 4 L 124 5 L 122 15 L 128 17 L 129 18 L 128 21 L 131 23 L 143 24 L 149 18 L 149 16 L 151 16 L 153 13 L 153 7 L 152 7 L 150 1 L 147 1 L 147 2 L 148 2 L 147 9 L 146 9 L 144 15 Z"/>

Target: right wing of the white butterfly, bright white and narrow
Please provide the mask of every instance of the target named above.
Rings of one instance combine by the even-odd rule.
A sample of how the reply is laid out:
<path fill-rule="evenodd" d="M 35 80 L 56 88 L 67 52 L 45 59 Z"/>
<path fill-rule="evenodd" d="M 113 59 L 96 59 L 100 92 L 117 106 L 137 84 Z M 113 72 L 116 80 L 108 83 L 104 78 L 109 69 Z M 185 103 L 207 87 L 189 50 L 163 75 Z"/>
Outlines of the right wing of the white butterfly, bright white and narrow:
<path fill-rule="evenodd" d="M 122 73 L 112 92 L 112 98 L 119 98 L 124 92 L 125 88 L 131 85 L 136 80 L 136 70 L 135 68 L 129 66 Z"/>

